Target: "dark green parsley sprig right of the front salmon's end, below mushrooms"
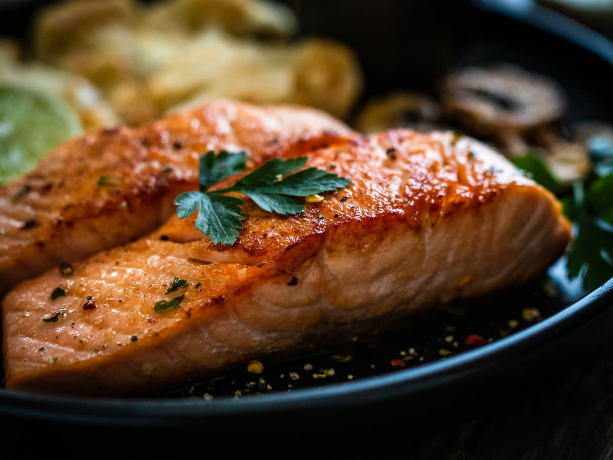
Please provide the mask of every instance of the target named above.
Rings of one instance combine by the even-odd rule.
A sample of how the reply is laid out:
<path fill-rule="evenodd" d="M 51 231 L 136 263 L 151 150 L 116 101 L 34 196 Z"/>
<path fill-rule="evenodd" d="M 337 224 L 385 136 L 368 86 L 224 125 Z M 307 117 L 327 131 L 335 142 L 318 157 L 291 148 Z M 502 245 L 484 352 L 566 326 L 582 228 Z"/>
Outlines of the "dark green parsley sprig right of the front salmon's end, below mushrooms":
<path fill-rule="evenodd" d="M 511 161 L 562 201 L 575 228 L 566 253 L 566 275 L 569 279 L 579 277 L 583 288 L 592 291 L 613 278 L 613 144 L 592 138 L 587 148 L 592 174 L 575 180 L 570 189 L 563 187 L 534 153 Z"/>

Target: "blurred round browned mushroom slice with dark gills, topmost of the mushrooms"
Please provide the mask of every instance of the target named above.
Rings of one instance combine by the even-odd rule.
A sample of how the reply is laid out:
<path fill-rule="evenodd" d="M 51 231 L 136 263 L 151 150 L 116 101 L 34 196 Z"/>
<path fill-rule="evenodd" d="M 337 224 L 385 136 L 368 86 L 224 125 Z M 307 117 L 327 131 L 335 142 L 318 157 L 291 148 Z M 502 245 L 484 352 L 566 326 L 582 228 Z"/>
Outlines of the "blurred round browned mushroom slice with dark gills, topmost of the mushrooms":
<path fill-rule="evenodd" d="M 449 72 L 441 103 L 443 112 L 467 131 L 499 140 L 548 125 L 566 108 L 565 94 L 554 80 L 510 64 Z"/>

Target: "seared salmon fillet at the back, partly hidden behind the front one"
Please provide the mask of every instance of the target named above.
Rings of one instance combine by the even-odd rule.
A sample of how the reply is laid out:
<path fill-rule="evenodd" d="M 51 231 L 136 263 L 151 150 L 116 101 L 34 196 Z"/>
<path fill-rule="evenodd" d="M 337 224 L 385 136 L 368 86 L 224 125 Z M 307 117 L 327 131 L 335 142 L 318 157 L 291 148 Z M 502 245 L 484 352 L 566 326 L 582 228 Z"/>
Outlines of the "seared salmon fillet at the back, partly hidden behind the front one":
<path fill-rule="evenodd" d="M 306 107 L 211 102 L 140 129 L 69 140 L 0 188 L 0 297 L 15 283 L 158 228 L 197 185 L 207 150 L 245 150 L 254 164 L 324 133 L 351 132 Z"/>

